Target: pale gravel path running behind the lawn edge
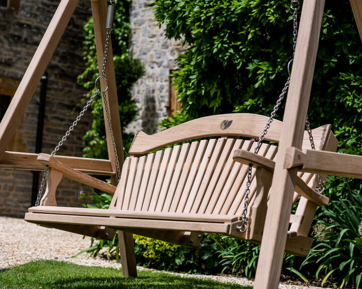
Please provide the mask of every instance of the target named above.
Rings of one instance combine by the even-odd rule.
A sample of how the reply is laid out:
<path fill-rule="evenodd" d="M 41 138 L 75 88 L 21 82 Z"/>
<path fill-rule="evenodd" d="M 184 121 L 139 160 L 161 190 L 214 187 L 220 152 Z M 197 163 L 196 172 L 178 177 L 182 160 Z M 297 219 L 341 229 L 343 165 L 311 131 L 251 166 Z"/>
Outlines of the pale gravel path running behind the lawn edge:
<path fill-rule="evenodd" d="M 88 266 L 103 266 L 120 268 L 115 260 L 108 261 L 101 257 L 92 258 L 81 254 L 72 258 L 80 250 L 87 248 L 90 238 L 60 230 L 49 229 L 35 224 L 27 223 L 23 219 L 0 217 L 0 268 L 12 267 L 40 259 L 56 259 Z M 138 270 L 152 270 L 137 267 Z M 157 271 L 157 270 L 152 270 Z M 246 278 L 229 275 L 194 275 L 173 273 L 170 274 L 207 278 L 221 282 L 232 282 L 241 285 L 252 285 Z M 298 286 L 281 283 L 281 289 L 317 289 L 313 286 Z"/>

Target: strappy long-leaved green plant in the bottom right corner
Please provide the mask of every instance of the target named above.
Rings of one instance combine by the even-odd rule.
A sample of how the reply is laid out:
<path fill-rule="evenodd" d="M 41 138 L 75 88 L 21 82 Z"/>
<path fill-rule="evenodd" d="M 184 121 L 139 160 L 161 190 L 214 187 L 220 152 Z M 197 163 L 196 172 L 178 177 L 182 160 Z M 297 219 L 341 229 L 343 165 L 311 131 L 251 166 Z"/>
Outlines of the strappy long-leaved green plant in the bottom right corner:
<path fill-rule="evenodd" d="M 358 226 L 362 221 L 362 196 L 351 194 L 349 198 L 334 200 L 322 208 L 317 223 L 324 227 L 323 236 L 302 263 L 301 268 L 317 264 L 316 279 L 323 276 L 322 285 L 336 279 L 343 287 L 353 283 L 359 288 L 362 279 L 362 239 Z"/>

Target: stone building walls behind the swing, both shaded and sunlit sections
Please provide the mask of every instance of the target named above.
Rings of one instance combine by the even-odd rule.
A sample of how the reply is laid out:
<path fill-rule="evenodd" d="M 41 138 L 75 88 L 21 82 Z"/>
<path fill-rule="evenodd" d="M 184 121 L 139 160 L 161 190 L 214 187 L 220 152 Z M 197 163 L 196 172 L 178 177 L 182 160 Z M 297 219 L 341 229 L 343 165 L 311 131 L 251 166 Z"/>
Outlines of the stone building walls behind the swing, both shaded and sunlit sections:
<path fill-rule="evenodd" d="M 0 100 L 15 93 L 37 46 L 59 4 L 59 0 L 1 0 L 0 4 Z M 130 53 L 141 60 L 145 75 L 132 90 L 138 115 L 128 132 L 157 131 L 157 123 L 167 117 L 172 97 L 170 72 L 175 58 L 183 51 L 182 42 L 165 39 L 163 27 L 154 20 L 150 0 L 133 0 L 130 10 Z M 50 153 L 79 113 L 85 91 L 75 79 L 82 72 L 82 26 L 91 15 L 89 0 L 80 0 L 75 14 L 47 68 L 48 85 L 42 140 L 42 153 Z M 4 95 L 4 86 L 8 95 Z M 35 153 L 40 85 L 30 101 L 8 151 Z M 173 95 L 174 96 L 174 95 Z M 10 101 L 10 99 L 9 99 Z M 2 114 L 6 101 L 0 102 Z M 169 109 L 168 109 L 169 110 Z M 82 136 L 89 128 L 91 114 L 86 113 L 58 155 L 81 157 Z M 33 172 L 0 169 L 0 215 L 23 217 L 32 202 Z M 57 189 L 58 206 L 81 206 L 76 198 L 88 189 L 63 178 Z"/>

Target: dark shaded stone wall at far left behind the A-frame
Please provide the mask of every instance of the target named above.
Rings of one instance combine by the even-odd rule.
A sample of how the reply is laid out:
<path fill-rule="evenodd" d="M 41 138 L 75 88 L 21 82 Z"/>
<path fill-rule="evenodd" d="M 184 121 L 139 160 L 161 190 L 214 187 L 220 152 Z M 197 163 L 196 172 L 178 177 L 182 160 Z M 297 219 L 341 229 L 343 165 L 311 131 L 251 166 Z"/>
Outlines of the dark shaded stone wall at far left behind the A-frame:
<path fill-rule="evenodd" d="M 58 4 L 58 0 L 21 0 L 19 9 L 0 8 L 0 77 L 21 80 Z M 76 85 L 76 77 L 84 68 L 82 26 L 89 16 L 89 1 L 80 0 L 48 66 L 43 153 L 53 150 L 83 105 L 84 91 Z M 19 125 L 15 148 L 9 149 L 35 152 L 38 106 L 39 86 Z M 59 155 L 82 155 L 82 136 L 90 122 L 91 114 L 86 113 Z M 31 205 L 32 182 L 30 171 L 0 169 L 0 215 L 24 216 Z M 81 206 L 75 196 L 81 189 L 88 191 L 63 179 L 57 191 L 58 206 Z"/>

